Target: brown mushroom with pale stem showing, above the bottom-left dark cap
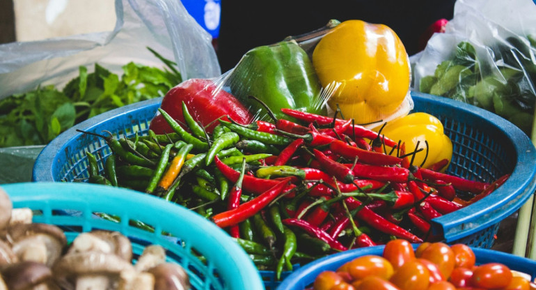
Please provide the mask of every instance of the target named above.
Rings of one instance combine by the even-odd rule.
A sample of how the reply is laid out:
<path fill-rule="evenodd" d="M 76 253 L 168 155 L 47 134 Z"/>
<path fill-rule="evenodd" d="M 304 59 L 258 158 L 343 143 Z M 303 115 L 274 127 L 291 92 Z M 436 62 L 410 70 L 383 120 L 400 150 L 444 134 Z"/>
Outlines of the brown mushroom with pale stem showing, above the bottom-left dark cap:
<path fill-rule="evenodd" d="M 7 240 L 21 261 L 40 261 L 52 266 L 67 245 L 63 231 L 54 224 L 15 224 L 8 228 Z"/>

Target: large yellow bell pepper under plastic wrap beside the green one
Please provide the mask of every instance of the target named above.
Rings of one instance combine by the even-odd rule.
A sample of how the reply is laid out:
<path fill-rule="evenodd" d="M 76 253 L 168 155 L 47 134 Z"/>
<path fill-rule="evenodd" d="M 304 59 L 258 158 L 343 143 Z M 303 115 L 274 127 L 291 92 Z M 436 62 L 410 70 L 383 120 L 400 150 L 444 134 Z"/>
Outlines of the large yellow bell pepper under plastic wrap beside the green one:
<path fill-rule="evenodd" d="M 322 37 L 313 51 L 313 66 L 328 100 L 346 119 L 371 123 L 400 106 L 409 90 L 411 68 L 406 49 L 384 24 L 347 20 Z"/>

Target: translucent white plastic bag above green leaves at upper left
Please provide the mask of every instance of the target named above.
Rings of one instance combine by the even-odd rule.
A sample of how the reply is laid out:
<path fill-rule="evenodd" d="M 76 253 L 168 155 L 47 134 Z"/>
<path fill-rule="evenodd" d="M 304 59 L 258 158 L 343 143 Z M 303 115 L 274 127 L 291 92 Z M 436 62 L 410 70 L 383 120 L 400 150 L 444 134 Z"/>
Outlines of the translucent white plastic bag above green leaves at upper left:
<path fill-rule="evenodd" d="M 180 1 L 116 0 L 116 16 L 113 31 L 0 45 L 0 98 L 62 86 L 95 62 L 113 73 L 130 61 L 163 67 L 146 47 L 174 60 L 183 79 L 221 74 L 212 37 Z"/>

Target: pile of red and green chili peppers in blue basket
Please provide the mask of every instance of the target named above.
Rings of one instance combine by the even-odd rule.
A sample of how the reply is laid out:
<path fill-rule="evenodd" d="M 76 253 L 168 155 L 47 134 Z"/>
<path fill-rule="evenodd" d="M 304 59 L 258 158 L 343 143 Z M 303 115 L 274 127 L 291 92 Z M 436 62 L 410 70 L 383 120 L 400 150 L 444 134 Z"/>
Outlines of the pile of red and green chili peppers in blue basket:
<path fill-rule="evenodd" d="M 468 206 L 505 182 L 471 181 L 412 164 L 416 151 L 352 120 L 294 109 L 284 119 L 239 125 L 219 120 L 207 133 L 183 105 L 186 124 L 159 112 L 174 132 L 114 139 L 89 182 L 155 194 L 203 215 L 244 247 L 260 269 L 292 270 L 333 252 L 439 241 L 430 220 Z M 421 149 L 422 150 L 422 149 Z M 461 194 L 463 193 L 463 194 Z M 461 198 L 461 197 L 464 198 Z"/>

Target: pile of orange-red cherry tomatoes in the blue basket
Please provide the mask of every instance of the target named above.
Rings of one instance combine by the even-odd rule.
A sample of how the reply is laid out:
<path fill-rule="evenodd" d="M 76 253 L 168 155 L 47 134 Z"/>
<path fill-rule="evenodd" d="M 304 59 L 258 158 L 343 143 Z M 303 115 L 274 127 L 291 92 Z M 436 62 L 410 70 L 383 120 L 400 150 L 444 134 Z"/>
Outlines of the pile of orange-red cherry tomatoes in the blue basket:
<path fill-rule="evenodd" d="M 536 289 L 530 275 L 500 262 L 475 264 L 464 244 L 422 243 L 416 250 L 404 240 L 386 243 L 383 254 L 357 257 L 315 279 L 314 290 Z"/>

